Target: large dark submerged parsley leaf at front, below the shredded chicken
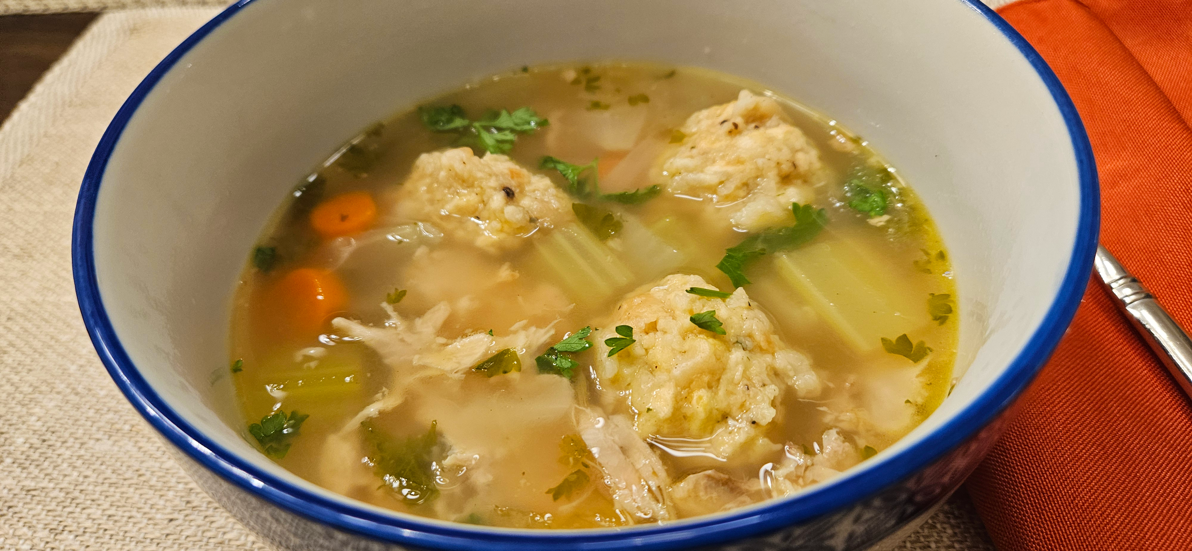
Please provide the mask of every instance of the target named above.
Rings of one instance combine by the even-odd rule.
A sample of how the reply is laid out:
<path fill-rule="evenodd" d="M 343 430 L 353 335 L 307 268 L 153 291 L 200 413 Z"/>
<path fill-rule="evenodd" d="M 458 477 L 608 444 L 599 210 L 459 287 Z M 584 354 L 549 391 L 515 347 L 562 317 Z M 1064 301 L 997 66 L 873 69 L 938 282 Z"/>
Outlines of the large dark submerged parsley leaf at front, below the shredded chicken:
<path fill-rule="evenodd" d="M 432 421 L 427 434 L 398 440 L 378 431 L 372 421 L 360 423 L 365 429 L 367 457 L 373 465 L 373 475 L 380 477 L 383 487 L 409 504 L 426 503 L 439 497 L 434 471 L 435 459 L 441 454 L 437 450 L 436 426 Z"/>

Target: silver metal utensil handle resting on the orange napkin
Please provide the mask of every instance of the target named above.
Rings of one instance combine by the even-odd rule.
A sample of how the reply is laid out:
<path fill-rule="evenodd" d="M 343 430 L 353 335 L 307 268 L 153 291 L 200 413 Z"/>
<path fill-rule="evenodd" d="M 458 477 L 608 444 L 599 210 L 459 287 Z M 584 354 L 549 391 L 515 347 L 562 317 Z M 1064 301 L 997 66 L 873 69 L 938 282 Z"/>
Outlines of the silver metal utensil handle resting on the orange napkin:
<path fill-rule="evenodd" d="M 1172 372 L 1184 394 L 1192 398 L 1192 339 L 1104 246 L 1097 247 L 1093 266 L 1113 293 L 1118 308 Z"/>

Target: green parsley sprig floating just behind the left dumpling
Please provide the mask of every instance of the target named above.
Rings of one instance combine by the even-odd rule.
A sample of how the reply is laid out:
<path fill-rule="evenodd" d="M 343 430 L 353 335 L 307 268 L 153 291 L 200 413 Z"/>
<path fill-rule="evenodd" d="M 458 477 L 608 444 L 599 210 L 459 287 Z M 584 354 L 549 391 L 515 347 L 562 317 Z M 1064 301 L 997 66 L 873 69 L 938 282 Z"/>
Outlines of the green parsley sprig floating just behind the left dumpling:
<path fill-rule="evenodd" d="M 428 129 L 435 132 L 455 132 L 459 135 L 459 143 L 474 143 L 489 153 L 509 153 L 519 134 L 532 134 L 550 124 L 550 120 L 540 118 L 529 107 L 520 107 L 513 112 L 492 110 L 473 122 L 459 105 L 423 106 L 418 107 L 418 117 Z"/>

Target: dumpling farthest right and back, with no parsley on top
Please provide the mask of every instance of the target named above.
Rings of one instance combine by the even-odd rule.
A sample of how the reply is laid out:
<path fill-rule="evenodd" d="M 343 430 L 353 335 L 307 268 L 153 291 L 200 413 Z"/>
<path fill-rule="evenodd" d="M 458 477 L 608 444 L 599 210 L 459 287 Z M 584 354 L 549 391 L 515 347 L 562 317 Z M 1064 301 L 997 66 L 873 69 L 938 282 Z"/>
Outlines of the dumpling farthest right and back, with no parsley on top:
<path fill-rule="evenodd" d="M 783 223 L 790 204 L 813 197 L 819 151 L 771 98 L 743 89 L 735 101 L 697 111 L 663 162 L 666 190 L 710 199 L 734 227 Z"/>

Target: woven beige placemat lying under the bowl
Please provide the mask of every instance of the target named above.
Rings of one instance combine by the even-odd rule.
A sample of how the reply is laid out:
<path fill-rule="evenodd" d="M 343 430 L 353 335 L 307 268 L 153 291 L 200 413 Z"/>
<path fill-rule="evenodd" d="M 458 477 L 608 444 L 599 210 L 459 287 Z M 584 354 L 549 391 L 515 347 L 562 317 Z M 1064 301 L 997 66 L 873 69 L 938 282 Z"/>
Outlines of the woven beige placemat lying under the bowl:
<path fill-rule="evenodd" d="M 0 126 L 2 550 L 266 549 L 120 396 L 87 339 L 70 276 L 75 196 L 100 135 L 149 69 L 216 12 L 101 16 Z M 898 549 L 993 546 L 954 497 Z"/>

